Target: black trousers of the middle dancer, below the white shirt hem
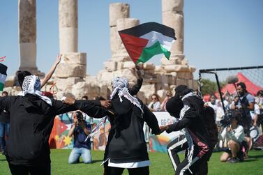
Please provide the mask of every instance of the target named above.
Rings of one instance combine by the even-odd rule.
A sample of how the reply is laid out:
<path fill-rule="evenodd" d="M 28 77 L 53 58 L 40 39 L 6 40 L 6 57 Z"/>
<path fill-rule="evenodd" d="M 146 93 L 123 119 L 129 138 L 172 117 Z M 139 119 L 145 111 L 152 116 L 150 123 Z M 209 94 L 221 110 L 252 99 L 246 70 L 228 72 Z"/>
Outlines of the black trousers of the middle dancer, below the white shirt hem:
<path fill-rule="evenodd" d="M 109 167 L 107 162 L 104 163 L 104 174 L 103 175 L 121 175 L 124 171 L 124 168 L 119 167 Z M 128 168 L 129 175 L 149 175 L 149 166 L 148 167 L 139 167 L 139 168 Z"/>

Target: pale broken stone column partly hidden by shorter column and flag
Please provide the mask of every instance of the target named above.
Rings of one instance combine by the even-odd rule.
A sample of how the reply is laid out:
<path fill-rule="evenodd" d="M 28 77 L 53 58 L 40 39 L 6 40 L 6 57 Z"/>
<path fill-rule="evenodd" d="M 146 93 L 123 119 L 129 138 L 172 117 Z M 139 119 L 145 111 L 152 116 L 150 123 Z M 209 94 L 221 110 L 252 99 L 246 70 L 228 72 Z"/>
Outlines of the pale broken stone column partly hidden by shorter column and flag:
<path fill-rule="evenodd" d="M 117 20 L 130 17 L 130 6 L 127 3 L 110 3 L 110 49 L 112 57 L 121 47 L 121 38 L 117 31 Z"/>

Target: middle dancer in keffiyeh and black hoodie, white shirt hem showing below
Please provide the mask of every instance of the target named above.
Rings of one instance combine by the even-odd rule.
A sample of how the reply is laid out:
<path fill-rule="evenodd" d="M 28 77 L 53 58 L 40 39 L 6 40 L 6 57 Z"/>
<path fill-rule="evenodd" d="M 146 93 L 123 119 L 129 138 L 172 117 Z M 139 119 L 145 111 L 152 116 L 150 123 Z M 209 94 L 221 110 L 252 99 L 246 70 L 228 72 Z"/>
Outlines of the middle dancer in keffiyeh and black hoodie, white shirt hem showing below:
<path fill-rule="evenodd" d="M 122 174 L 125 168 L 129 174 L 149 174 L 149 157 L 144 139 L 144 121 L 153 134 L 160 132 L 156 116 L 133 97 L 142 86 L 142 79 L 137 80 L 133 89 L 128 89 L 128 79 L 116 77 L 112 81 L 111 95 L 114 116 L 109 117 L 112 128 L 104 155 L 104 174 Z"/>

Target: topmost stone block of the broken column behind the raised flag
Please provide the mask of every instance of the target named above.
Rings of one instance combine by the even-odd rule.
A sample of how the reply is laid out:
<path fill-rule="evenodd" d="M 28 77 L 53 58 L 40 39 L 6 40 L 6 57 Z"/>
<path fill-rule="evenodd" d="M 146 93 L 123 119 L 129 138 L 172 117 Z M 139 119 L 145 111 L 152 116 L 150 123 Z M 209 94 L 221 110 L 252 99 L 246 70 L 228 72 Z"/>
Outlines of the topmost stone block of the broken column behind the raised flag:
<path fill-rule="evenodd" d="M 110 3 L 110 26 L 117 26 L 117 20 L 130 17 L 128 3 Z"/>

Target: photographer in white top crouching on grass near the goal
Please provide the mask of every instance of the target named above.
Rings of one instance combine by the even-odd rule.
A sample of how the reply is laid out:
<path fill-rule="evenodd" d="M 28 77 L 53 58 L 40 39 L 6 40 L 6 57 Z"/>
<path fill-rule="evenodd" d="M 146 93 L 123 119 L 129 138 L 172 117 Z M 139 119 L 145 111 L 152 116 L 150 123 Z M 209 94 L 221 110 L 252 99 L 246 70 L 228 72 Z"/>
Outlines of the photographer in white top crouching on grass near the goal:
<path fill-rule="evenodd" d="M 243 161 L 243 152 L 241 148 L 245 141 L 245 133 L 243 126 L 239 125 L 240 117 L 241 113 L 234 111 L 230 119 L 230 126 L 225 127 L 223 132 L 219 135 L 220 139 L 225 140 L 225 138 L 227 138 L 227 145 L 229 147 L 229 149 L 221 155 L 221 162 L 236 163 Z"/>

